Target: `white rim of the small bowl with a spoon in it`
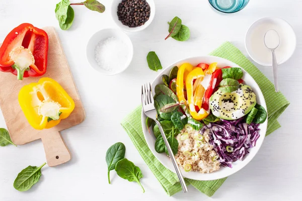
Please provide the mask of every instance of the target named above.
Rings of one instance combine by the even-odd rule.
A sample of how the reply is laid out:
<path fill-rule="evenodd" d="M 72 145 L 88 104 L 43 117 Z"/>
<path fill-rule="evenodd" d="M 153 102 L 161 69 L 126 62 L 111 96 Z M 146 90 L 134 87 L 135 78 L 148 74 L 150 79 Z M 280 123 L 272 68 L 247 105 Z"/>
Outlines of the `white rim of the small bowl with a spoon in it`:
<path fill-rule="evenodd" d="M 293 33 L 293 36 L 294 36 L 294 38 L 293 38 L 293 40 L 294 40 L 293 48 L 292 48 L 292 50 L 291 50 L 291 52 L 290 52 L 290 54 L 289 54 L 289 56 L 288 56 L 287 58 L 285 58 L 285 59 L 283 59 L 281 62 L 277 63 L 277 65 L 281 65 L 281 64 L 285 63 L 286 61 L 288 61 L 288 59 L 290 59 L 290 57 L 292 57 L 292 55 L 293 55 L 293 53 L 294 53 L 294 51 L 295 51 L 295 49 L 296 49 L 296 46 L 297 46 L 296 34 L 295 34 L 295 32 L 294 32 L 292 26 L 291 26 L 286 20 L 284 20 L 284 19 L 282 19 L 282 18 L 279 18 L 279 17 L 264 17 L 264 18 L 260 18 L 260 19 L 258 19 L 258 20 L 256 20 L 256 21 L 254 21 L 254 22 L 249 26 L 248 30 L 246 31 L 246 35 L 245 35 L 245 43 L 244 43 L 244 44 L 245 44 L 246 51 L 248 52 L 248 54 L 249 54 L 249 56 L 251 57 L 251 59 L 253 59 L 253 61 L 255 61 L 256 63 L 258 63 L 258 64 L 260 64 L 260 65 L 263 65 L 263 66 L 269 66 L 269 67 L 272 66 L 272 65 L 267 65 L 266 63 L 259 62 L 259 60 L 254 59 L 254 58 L 251 56 L 251 53 L 250 53 L 250 51 L 249 51 L 249 49 L 248 49 L 248 47 L 247 47 L 247 36 L 248 36 L 248 33 L 251 31 L 252 26 L 254 26 L 256 23 L 258 23 L 258 22 L 260 22 L 260 21 L 264 21 L 264 20 L 277 20 L 277 21 L 283 21 L 283 22 L 285 22 L 285 23 L 291 28 L 291 32 Z"/>

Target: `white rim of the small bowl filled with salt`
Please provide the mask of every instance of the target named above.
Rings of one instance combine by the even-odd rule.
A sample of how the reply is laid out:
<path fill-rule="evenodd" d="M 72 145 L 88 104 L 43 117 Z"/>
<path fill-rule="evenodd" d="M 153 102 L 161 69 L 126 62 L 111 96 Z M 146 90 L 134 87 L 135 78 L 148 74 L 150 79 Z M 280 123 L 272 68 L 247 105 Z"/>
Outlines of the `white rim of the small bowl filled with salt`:
<path fill-rule="evenodd" d="M 130 45 L 129 45 L 129 52 L 130 52 L 130 58 L 129 58 L 129 60 L 128 60 L 127 63 L 124 65 L 124 68 L 123 68 L 123 69 L 121 69 L 120 71 L 113 71 L 112 73 L 110 73 L 109 71 L 107 71 L 108 73 L 105 73 L 106 70 L 100 70 L 100 68 L 97 68 L 97 67 L 90 61 L 90 59 L 89 59 L 89 57 L 88 57 L 89 50 L 91 50 L 90 47 L 89 47 L 89 43 L 90 43 L 90 41 L 92 40 L 92 38 L 95 37 L 96 35 L 100 34 L 101 32 L 107 32 L 107 31 L 109 31 L 109 32 L 110 32 L 110 31 L 111 31 L 111 32 L 116 32 L 116 33 L 118 33 L 119 35 L 125 36 L 126 40 L 129 42 L 129 43 L 127 43 L 127 44 L 130 44 Z M 123 40 L 123 39 L 122 39 L 122 40 Z M 119 74 L 119 73 L 122 73 L 123 71 L 125 71 L 125 70 L 129 67 L 129 65 L 131 64 L 131 62 L 132 62 L 132 59 L 133 59 L 133 52 L 134 52 L 134 50 L 133 50 L 133 44 L 132 44 L 132 41 L 131 41 L 130 37 L 129 37 L 125 32 L 123 32 L 122 30 L 116 29 L 116 28 L 106 28 L 106 29 L 101 29 L 101 30 L 99 30 L 99 31 L 96 31 L 95 33 L 93 33 L 93 34 L 90 36 L 90 38 L 89 38 L 89 40 L 88 40 L 88 42 L 87 42 L 87 44 L 86 44 L 86 59 L 87 59 L 88 63 L 90 64 L 90 66 L 91 66 L 94 70 L 96 70 L 97 72 L 99 72 L 99 73 L 101 73 L 101 74 L 103 74 L 103 75 L 116 75 L 116 74 Z"/>

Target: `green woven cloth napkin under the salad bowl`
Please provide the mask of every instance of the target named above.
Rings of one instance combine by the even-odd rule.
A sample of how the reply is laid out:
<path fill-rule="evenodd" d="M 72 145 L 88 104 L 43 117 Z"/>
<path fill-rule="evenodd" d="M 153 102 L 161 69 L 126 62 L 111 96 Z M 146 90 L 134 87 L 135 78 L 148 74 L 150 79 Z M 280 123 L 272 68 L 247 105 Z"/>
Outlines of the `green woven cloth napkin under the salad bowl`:
<path fill-rule="evenodd" d="M 275 92 L 274 85 L 230 42 L 223 43 L 220 47 L 210 53 L 210 55 L 233 61 L 244 68 L 256 80 L 262 90 L 267 105 L 268 127 L 266 135 L 269 135 L 280 128 L 281 126 L 278 123 L 277 118 L 289 105 L 289 102 L 284 95 L 281 92 Z M 129 114 L 121 125 L 129 135 L 143 160 L 162 184 L 167 194 L 171 196 L 176 192 L 181 191 L 182 188 L 177 175 L 164 167 L 152 154 L 146 144 L 141 127 L 141 106 Z M 197 181 L 185 178 L 187 185 L 193 185 L 200 192 L 208 196 L 212 196 L 225 179 L 226 177 L 212 181 Z"/>

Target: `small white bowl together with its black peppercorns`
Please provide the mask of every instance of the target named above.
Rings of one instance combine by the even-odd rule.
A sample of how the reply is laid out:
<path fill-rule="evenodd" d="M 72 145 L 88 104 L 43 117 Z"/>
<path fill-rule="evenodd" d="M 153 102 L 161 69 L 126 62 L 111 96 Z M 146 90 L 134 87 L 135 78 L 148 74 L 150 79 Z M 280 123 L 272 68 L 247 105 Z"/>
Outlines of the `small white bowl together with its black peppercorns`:
<path fill-rule="evenodd" d="M 137 32 L 147 28 L 155 16 L 153 0 L 113 0 L 111 16 L 124 31 Z"/>

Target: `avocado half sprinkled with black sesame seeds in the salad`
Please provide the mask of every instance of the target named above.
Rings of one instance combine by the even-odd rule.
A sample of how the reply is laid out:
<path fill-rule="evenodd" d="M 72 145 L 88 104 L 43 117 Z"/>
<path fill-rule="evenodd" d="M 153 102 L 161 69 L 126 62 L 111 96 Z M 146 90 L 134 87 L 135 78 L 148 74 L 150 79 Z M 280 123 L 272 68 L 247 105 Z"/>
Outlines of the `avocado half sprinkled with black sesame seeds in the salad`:
<path fill-rule="evenodd" d="M 240 84 L 236 91 L 222 92 L 218 89 L 210 97 L 212 114 L 220 119 L 236 120 L 248 114 L 256 105 L 256 95 L 252 88 Z"/>

